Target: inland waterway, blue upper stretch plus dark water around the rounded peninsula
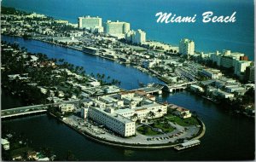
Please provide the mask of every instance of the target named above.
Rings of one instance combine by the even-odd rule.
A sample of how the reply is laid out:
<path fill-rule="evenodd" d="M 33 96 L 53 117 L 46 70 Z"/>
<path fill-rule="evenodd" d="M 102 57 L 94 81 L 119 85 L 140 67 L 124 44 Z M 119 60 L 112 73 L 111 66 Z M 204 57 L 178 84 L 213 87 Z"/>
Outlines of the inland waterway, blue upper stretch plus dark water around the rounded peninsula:
<path fill-rule="evenodd" d="M 82 52 L 42 43 L 35 40 L 25 40 L 3 36 L 2 40 L 9 43 L 19 43 L 29 52 L 41 52 L 49 58 L 65 59 L 76 66 L 83 66 L 86 73 L 105 73 L 106 76 L 119 79 L 121 88 L 131 90 L 138 88 L 138 82 L 144 84 L 161 83 L 154 78 L 138 71 L 133 67 L 119 65 L 93 55 L 85 55 Z M 3 95 L 2 108 L 10 108 L 11 104 L 22 105 L 11 95 Z M 8 100 L 6 100 L 8 97 Z M 182 152 L 173 149 L 161 150 L 137 150 L 126 148 L 114 148 L 100 143 L 91 142 L 65 124 L 43 114 L 2 121 L 2 129 L 13 130 L 22 133 L 32 140 L 32 147 L 49 147 L 59 159 L 65 159 L 67 151 L 71 150 L 79 160 L 238 160 L 254 159 L 254 119 L 248 119 L 240 114 L 232 113 L 227 107 L 207 101 L 200 96 L 187 91 L 158 96 L 161 101 L 172 102 L 178 106 L 195 111 L 204 124 L 207 131 L 201 138 L 201 146 Z M 44 136 L 42 136 L 44 135 Z"/>

